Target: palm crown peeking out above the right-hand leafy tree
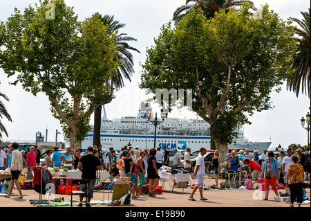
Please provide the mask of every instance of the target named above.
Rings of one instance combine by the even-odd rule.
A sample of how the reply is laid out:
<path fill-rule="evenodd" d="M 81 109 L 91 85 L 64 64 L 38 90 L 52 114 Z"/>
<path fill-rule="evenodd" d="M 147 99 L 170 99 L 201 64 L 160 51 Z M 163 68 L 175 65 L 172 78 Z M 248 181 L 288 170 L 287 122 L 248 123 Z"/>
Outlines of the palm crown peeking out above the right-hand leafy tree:
<path fill-rule="evenodd" d="M 198 10 L 201 8 L 203 10 L 203 15 L 207 19 L 214 17 L 215 12 L 218 12 L 220 9 L 225 8 L 225 10 L 230 10 L 234 7 L 242 6 L 243 2 L 249 3 L 252 10 L 256 10 L 254 3 L 252 1 L 243 1 L 243 0 L 186 0 L 186 4 L 178 7 L 173 13 L 173 21 L 178 22 L 182 17 L 187 15 L 187 12 L 191 8 Z"/>

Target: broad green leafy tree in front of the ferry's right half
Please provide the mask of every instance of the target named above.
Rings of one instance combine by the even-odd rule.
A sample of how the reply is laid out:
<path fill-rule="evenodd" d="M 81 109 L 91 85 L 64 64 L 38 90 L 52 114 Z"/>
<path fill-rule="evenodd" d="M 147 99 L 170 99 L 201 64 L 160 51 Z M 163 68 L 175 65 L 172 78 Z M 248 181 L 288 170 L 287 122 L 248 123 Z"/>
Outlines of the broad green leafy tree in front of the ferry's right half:
<path fill-rule="evenodd" d="M 289 23 L 268 6 L 262 19 L 252 17 L 247 4 L 239 12 L 220 10 L 214 19 L 192 9 L 175 28 L 162 27 L 147 50 L 140 87 L 192 89 L 192 109 L 211 125 L 224 156 L 236 127 L 272 108 L 270 92 L 292 73 L 296 44 Z"/>

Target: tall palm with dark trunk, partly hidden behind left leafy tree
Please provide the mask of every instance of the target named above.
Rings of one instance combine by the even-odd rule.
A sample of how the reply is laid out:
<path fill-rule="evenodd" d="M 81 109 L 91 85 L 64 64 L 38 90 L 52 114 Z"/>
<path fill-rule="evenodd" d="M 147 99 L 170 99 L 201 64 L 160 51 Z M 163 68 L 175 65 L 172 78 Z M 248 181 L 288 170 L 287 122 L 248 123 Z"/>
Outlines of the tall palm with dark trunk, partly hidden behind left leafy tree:
<path fill-rule="evenodd" d="M 119 21 L 114 21 L 114 16 L 112 15 L 100 15 L 100 13 L 96 12 L 95 16 L 99 17 L 101 21 L 108 26 L 109 34 L 114 33 L 116 30 L 123 28 L 125 24 L 120 23 Z M 116 68 L 117 76 L 111 79 L 111 85 L 115 88 L 115 90 L 120 90 L 124 87 L 124 80 L 126 78 L 131 82 L 131 77 L 134 73 L 134 62 L 133 62 L 133 55 L 131 54 L 130 50 L 138 51 L 138 49 L 133 48 L 128 44 L 128 42 L 137 41 L 137 39 L 133 37 L 127 36 L 126 33 L 120 33 L 116 36 L 116 43 L 118 46 L 118 51 L 115 55 L 115 60 L 119 60 L 121 65 Z M 93 145 L 100 144 L 100 123 L 102 118 L 102 106 L 97 107 L 94 112 L 94 134 L 93 134 Z"/>

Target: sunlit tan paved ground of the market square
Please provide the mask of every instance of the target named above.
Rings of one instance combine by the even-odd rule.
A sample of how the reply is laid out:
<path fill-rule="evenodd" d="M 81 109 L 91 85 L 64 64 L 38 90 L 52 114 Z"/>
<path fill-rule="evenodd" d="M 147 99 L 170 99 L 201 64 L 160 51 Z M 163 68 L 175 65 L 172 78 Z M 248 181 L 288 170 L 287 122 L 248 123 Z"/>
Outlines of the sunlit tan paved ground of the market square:
<path fill-rule="evenodd" d="M 194 179 L 194 182 L 196 180 Z M 220 179 L 220 182 L 223 181 Z M 214 179 L 207 178 L 205 179 L 205 185 L 214 184 Z M 93 205 L 93 208 L 120 208 L 123 209 L 143 209 L 147 207 L 153 207 L 157 209 L 182 209 L 188 207 L 289 207 L 289 204 L 285 202 L 275 202 L 274 201 L 274 193 L 271 190 L 268 201 L 256 200 L 261 198 L 261 193 L 254 190 L 243 190 L 243 189 L 230 189 L 230 190 L 205 190 L 203 191 L 203 195 L 208 198 L 207 201 L 199 200 L 198 191 L 194 195 L 194 198 L 197 200 L 195 202 L 187 200 L 189 194 L 191 193 L 191 188 L 185 188 L 182 191 L 182 188 L 174 188 L 173 193 L 169 190 L 169 185 L 166 184 L 162 195 L 156 195 L 155 198 L 149 197 L 149 195 L 140 195 L 138 199 L 133 199 L 131 201 L 131 205 L 129 206 L 106 206 L 106 205 Z M 282 193 L 285 193 L 285 190 L 279 190 Z M 310 188 L 306 188 L 307 195 L 306 198 L 310 199 Z M 30 204 L 29 200 L 39 200 L 39 193 L 34 190 L 23 190 L 23 199 L 17 199 L 15 197 L 18 196 L 18 191 L 15 188 L 13 190 L 14 195 L 7 199 L 4 196 L 0 196 L 0 206 L 1 207 L 39 207 Z M 105 197 L 107 197 L 107 192 L 105 191 Z M 55 197 L 64 197 L 64 200 L 70 200 L 70 195 L 59 195 L 56 194 Z M 111 194 L 110 194 L 111 197 Z M 43 197 L 45 200 L 45 196 Z M 78 199 L 78 196 L 74 196 L 74 199 Z M 102 200 L 103 199 L 103 191 L 98 191 L 94 193 L 94 200 Z M 296 206 L 296 205 L 295 205 Z M 41 206 L 40 206 L 41 207 Z M 69 207 L 69 206 L 57 206 L 53 207 L 53 209 Z M 310 208 L 310 204 L 302 205 L 302 207 Z"/>

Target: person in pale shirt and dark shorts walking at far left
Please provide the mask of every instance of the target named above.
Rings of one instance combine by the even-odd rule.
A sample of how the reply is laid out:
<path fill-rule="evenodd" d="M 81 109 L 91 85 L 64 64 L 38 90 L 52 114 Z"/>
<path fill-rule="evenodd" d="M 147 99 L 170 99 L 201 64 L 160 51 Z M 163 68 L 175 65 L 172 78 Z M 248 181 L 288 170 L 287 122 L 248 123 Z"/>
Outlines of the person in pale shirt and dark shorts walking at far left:
<path fill-rule="evenodd" d="M 17 188 L 17 191 L 19 191 L 19 196 L 16 198 L 22 199 L 23 193 L 21 193 L 21 186 L 19 185 L 19 174 L 21 173 L 21 170 L 23 169 L 23 157 L 21 156 L 21 152 L 19 152 L 19 143 L 13 142 L 12 148 L 14 149 L 12 152 L 12 159 L 10 161 L 10 168 L 11 168 L 11 180 L 10 180 L 10 189 L 8 191 L 8 195 L 5 195 L 5 197 L 10 198 L 10 195 L 13 191 L 14 184 Z"/>

